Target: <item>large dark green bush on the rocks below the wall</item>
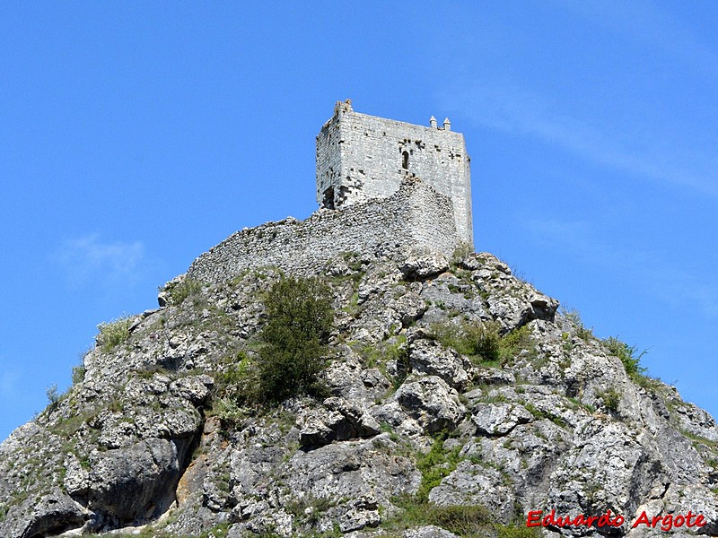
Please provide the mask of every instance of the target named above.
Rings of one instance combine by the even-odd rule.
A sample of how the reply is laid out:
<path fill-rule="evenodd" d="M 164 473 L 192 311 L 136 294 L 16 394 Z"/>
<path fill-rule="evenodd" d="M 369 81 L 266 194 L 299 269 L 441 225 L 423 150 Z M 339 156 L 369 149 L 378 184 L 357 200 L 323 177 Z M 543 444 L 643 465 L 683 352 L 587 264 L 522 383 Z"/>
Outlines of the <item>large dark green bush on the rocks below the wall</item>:
<path fill-rule="evenodd" d="M 316 394 L 334 321 L 330 291 L 318 279 L 282 278 L 264 301 L 267 325 L 261 331 L 259 393 L 280 402 Z"/>

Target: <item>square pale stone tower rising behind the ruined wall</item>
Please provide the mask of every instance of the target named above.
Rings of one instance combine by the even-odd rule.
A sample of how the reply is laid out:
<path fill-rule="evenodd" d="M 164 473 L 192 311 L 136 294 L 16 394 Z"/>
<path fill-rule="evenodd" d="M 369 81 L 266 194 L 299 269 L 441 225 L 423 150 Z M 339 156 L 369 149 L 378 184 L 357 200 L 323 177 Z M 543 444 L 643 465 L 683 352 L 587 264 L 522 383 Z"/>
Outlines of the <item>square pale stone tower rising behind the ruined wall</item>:
<path fill-rule="evenodd" d="M 473 247 L 471 173 L 464 136 L 436 119 L 415 126 L 368 116 L 338 101 L 317 136 L 317 203 L 338 209 L 398 190 L 401 178 L 415 175 L 451 198 L 459 239 Z"/>

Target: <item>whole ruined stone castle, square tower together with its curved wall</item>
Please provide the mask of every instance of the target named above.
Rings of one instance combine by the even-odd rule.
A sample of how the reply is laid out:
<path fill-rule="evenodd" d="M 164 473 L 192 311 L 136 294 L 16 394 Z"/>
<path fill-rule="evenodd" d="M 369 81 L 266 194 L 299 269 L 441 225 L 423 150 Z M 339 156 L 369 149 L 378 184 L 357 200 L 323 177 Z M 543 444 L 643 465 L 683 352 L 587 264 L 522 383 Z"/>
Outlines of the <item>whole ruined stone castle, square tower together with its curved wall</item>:
<path fill-rule="evenodd" d="M 338 102 L 317 136 L 317 201 L 320 210 L 305 221 L 235 232 L 199 256 L 188 276 L 220 282 L 268 265 L 311 275 L 347 252 L 398 258 L 428 248 L 451 256 L 462 241 L 473 247 L 468 155 L 448 120 L 414 126 Z"/>

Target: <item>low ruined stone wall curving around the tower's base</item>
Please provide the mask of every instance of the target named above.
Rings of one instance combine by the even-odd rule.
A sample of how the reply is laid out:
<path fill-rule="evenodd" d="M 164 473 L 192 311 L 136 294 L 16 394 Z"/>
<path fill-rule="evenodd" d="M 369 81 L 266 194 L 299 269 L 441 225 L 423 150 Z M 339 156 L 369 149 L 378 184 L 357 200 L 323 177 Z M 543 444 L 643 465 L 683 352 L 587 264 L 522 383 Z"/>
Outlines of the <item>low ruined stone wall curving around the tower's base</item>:
<path fill-rule="evenodd" d="M 306 221 L 288 218 L 235 232 L 199 256 L 188 276 L 223 282 L 268 265 L 310 275 L 345 252 L 392 256 L 407 247 L 432 247 L 451 256 L 456 237 L 451 200 L 418 178 L 405 178 L 389 198 L 337 211 L 320 209 Z"/>

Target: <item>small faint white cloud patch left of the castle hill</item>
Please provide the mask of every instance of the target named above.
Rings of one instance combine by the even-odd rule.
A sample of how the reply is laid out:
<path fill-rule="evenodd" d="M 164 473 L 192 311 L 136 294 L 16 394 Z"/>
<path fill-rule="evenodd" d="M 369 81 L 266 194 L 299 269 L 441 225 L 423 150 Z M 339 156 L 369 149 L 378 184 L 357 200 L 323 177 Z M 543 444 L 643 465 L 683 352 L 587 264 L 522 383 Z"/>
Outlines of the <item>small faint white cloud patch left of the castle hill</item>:
<path fill-rule="evenodd" d="M 57 260 L 68 280 L 76 285 L 92 279 L 127 281 L 135 275 L 143 256 L 140 241 L 104 242 L 100 234 L 91 234 L 66 241 Z"/>

